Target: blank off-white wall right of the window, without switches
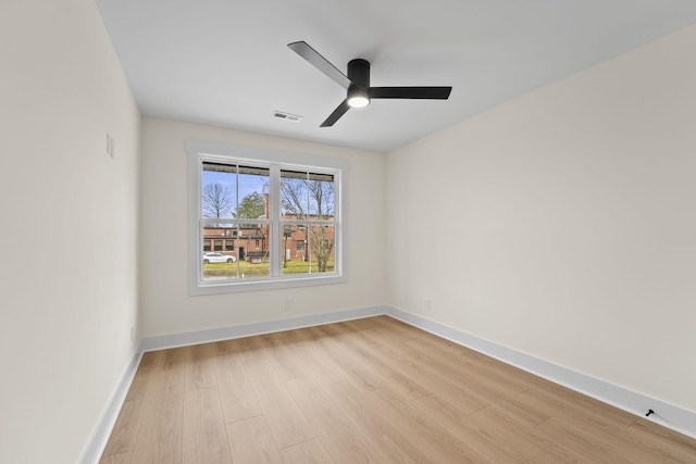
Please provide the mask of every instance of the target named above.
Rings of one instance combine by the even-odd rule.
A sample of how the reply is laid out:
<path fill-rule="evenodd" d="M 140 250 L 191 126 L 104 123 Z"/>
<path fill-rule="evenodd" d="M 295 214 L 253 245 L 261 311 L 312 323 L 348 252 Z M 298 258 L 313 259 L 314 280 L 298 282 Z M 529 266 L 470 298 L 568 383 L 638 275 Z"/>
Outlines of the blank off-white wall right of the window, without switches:
<path fill-rule="evenodd" d="M 388 304 L 696 412 L 695 47 L 389 153 Z"/>

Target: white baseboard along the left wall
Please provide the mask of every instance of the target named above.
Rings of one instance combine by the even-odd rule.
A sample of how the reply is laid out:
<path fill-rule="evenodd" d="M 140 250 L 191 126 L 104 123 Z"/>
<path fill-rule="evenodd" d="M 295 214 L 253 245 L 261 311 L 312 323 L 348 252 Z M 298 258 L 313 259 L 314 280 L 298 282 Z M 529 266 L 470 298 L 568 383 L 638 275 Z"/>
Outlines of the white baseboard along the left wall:
<path fill-rule="evenodd" d="M 116 419 L 119 418 L 119 413 L 121 412 L 121 407 L 123 406 L 123 402 L 126 399 L 126 393 L 130 388 L 130 384 L 135 378 L 135 373 L 138 371 L 138 365 L 140 364 L 140 359 L 142 358 L 141 352 L 136 352 L 126 367 L 125 373 L 121 376 L 121 380 L 116 384 L 109 401 L 107 402 L 107 407 L 104 407 L 99 422 L 97 422 L 97 427 L 92 432 L 85 450 L 83 451 L 82 457 L 78 463 L 82 464 L 98 464 L 101 459 L 101 454 L 104 452 L 104 448 L 107 448 L 107 441 L 109 441 L 109 437 L 111 436 L 111 430 L 113 426 L 116 424 Z"/>

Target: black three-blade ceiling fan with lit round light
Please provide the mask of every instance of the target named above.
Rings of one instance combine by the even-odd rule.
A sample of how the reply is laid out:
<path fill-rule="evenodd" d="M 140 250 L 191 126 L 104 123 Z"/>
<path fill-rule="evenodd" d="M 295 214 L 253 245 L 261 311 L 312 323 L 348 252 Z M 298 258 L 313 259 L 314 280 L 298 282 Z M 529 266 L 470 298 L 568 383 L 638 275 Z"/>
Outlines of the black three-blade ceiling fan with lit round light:
<path fill-rule="evenodd" d="M 370 87 L 370 62 L 362 59 L 348 62 L 348 76 L 338 71 L 328 60 L 304 41 L 287 45 L 294 52 L 327 75 L 347 90 L 346 99 L 334 110 L 320 127 L 331 127 L 351 108 L 363 108 L 371 99 L 428 99 L 447 100 L 451 87 Z"/>

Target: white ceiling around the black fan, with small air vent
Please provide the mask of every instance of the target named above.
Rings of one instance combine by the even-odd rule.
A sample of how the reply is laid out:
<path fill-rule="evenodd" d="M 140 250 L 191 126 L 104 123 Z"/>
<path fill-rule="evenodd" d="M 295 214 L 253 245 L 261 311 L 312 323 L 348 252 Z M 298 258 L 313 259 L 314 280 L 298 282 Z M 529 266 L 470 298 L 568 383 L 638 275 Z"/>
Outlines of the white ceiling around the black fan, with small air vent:
<path fill-rule="evenodd" d="M 405 143 L 696 23 L 694 0 L 96 0 L 146 116 L 373 151 Z M 452 86 L 374 100 L 319 125 L 345 90 L 287 48 L 373 86 Z M 299 123 L 274 111 L 303 116 Z"/>

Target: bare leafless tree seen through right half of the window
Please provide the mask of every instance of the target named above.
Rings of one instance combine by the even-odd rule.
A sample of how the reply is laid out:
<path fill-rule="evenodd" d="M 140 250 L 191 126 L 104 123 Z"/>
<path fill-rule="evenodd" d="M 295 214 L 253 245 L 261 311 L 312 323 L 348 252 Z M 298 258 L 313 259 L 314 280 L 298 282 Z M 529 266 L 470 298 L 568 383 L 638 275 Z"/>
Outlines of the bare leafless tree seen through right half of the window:
<path fill-rule="evenodd" d="M 298 221 L 323 221 L 334 216 L 333 179 L 284 177 L 281 181 L 281 199 L 286 214 Z M 328 226 L 312 225 L 304 228 L 309 235 L 312 252 L 316 256 L 319 272 L 325 273 L 328 259 L 334 250 L 334 234 Z"/>

